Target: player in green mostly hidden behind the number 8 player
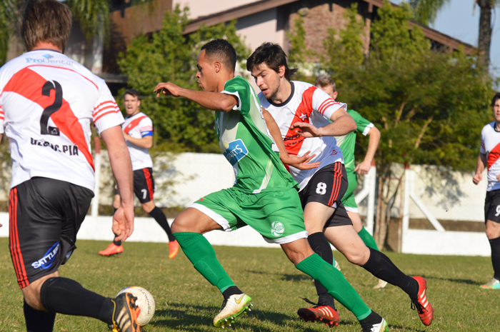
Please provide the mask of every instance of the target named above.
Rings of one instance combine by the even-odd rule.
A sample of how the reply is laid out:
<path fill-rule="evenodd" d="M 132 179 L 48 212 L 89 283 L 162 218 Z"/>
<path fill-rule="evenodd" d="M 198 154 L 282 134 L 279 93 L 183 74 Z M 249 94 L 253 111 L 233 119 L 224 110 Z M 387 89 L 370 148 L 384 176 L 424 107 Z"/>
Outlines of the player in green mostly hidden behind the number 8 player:
<path fill-rule="evenodd" d="M 339 94 L 336 91 L 336 84 L 334 80 L 330 79 L 327 76 L 319 76 L 314 85 L 319 89 L 323 90 L 331 96 L 331 99 L 336 100 L 337 95 Z M 342 204 L 346 207 L 347 214 L 349 218 L 351 218 L 352 225 L 356 232 L 358 232 L 359 237 L 363 240 L 366 246 L 374 250 L 379 250 L 376 246 L 376 242 L 373 236 L 371 236 L 368 231 L 361 223 L 361 218 L 359 218 L 358 205 L 354 200 L 354 190 L 356 190 L 356 186 L 358 185 L 358 176 L 362 174 L 368 174 L 371 167 L 371 161 L 374 159 L 376 148 L 379 146 L 380 141 L 380 131 L 376 129 L 376 126 L 372 124 L 370 121 L 364 119 L 358 112 L 348 109 L 347 114 L 352 116 L 352 119 L 356 121 L 357 129 L 356 131 L 352 131 L 351 133 L 344 136 L 336 136 L 337 145 L 342 150 L 342 154 L 344 155 L 344 166 L 346 167 L 347 179 L 349 181 L 349 187 L 347 188 L 344 197 L 342 198 Z M 355 166 L 354 162 L 354 148 L 356 145 L 356 132 L 363 134 L 364 136 L 369 136 L 368 141 L 368 149 L 366 149 L 366 155 L 364 156 L 364 161 L 362 161 L 358 166 Z M 374 288 L 384 288 L 387 285 L 386 281 L 379 279 L 379 283 L 377 283 Z"/>

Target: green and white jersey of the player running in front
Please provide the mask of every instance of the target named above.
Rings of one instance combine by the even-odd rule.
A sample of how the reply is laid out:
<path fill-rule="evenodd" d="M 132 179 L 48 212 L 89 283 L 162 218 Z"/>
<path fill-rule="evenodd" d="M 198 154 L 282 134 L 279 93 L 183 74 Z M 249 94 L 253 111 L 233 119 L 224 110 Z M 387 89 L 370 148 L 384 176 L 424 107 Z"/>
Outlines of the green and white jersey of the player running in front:
<path fill-rule="evenodd" d="M 224 84 L 222 93 L 238 99 L 232 111 L 216 112 L 215 120 L 219 146 L 234 169 L 234 188 L 260 193 L 298 186 L 279 159 L 249 82 L 236 76 Z"/>

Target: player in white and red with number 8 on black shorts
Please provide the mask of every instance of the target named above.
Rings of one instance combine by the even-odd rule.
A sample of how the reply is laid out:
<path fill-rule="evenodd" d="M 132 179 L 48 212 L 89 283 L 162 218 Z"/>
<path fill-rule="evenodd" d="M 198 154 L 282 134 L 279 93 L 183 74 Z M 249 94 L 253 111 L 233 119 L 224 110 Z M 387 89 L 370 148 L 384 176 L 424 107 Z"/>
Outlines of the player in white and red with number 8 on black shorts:
<path fill-rule="evenodd" d="M 246 69 L 261 89 L 261 105 L 276 120 L 289 154 L 296 155 L 307 149 L 316 155 L 311 162 L 321 162 L 319 168 L 311 170 L 289 167 L 291 175 L 300 183 L 299 196 L 311 248 L 332 264 L 330 241 L 351 263 L 399 286 L 410 296 L 422 323 L 429 326 L 434 310 L 426 298 L 425 279 L 406 276 L 384 253 L 367 247 L 341 203 L 347 187 L 346 171 L 342 152 L 333 136 L 356 130 L 354 120 L 345 111 L 346 105 L 334 101 L 312 84 L 289 81 L 296 69 L 289 69 L 286 54 L 278 44 L 259 46 L 247 59 Z M 305 320 L 336 323 L 339 314 L 334 310 L 333 298 L 317 281 L 316 291 L 319 295 L 316 307 L 301 308 L 297 313 Z"/>

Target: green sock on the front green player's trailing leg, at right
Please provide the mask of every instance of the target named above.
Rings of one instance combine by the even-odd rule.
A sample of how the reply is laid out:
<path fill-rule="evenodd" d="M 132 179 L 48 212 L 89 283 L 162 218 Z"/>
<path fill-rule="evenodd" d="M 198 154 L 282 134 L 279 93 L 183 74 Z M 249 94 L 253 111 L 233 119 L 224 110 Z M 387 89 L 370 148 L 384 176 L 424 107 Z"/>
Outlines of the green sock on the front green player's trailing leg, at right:
<path fill-rule="evenodd" d="M 354 313 L 358 321 L 368 317 L 371 313 L 371 309 L 361 300 L 342 273 L 326 263 L 317 253 L 298 263 L 296 268 L 319 281 L 336 301 Z"/>

